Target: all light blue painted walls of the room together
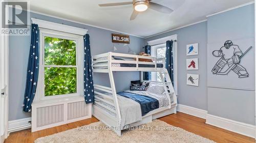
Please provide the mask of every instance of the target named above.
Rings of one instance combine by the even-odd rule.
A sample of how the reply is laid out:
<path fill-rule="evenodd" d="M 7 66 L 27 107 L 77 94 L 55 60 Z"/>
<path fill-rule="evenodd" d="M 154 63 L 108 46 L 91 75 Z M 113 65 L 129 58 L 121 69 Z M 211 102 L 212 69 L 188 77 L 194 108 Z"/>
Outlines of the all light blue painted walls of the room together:
<path fill-rule="evenodd" d="M 104 53 L 113 51 L 113 43 L 111 42 L 111 31 L 102 30 L 87 25 L 73 23 L 69 21 L 63 21 L 53 17 L 31 13 L 31 17 L 57 22 L 65 23 L 76 27 L 88 29 L 88 33 L 91 37 L 91 48 L 92 55 L 98 53 Z M 244 122 L 248 124 L 255 124 L 255 97 L 254 97 L 254 63 L 248 62 L 250 65 L 247 66 L 248 72 L 250 72 L 250 79 L 245 83 L 245 87 L 249 91 L 243 90 L 229 90 L 221 88 L 207 88 L 207 82 L 209 86 L 216 85 L 216 80 L 212 78 L 209 70 L 212 68 L 212 59 L 207 58 L 210 56 L 212 49 L 218 49 L 227 38 L 236 41 L 239 44 L 243 44 L 243 39 L 247 42 L 242 47 L 246 48 L 248 45 L 254 43 L 251 39 L 254 38 L 254 7 L 253 5 L 245 6 L 242 8 L 234 9 L 222 14 L 211 16 L 208 21 L 201 22 L 195 25 L 187 26 L 176 31 L 167 32 L 158 36 L 154 36 L 147 39 L 131 36 L 130 47 L 139 53 L 143 51 L 141 47 L 147 41 L 159 39 L 170 35 L 178 35 L 178 102 L 179 104 L 196 107 L 204 110 L 208 110 L 211 115 Z M 101 42 L 99 42 L 99 40 Z M 191 43 L 199 43 L 199 55 L 186 56 L 186 45 Z M 208 47 L 207 47 L 208 43 Z M 9 120 L 16 120 L 31 117 L 30 114 L 22 112 L 23 94 L 26 83 L 26 68 L 28 62 L 28 52 L 30 37 L 14 37 L 10 36 L 10 110 Z M 116 52 L 127 53 L 128 49 L 123 47 L 122 44 L 115 44 L 118 48 Z M 207 48 L 209 49 L 207 51 Z M 253 47 L 254 48 L 254 47 Z M 252 49 L 254 50 L 254 49 Z M 251 51 L 250 51 L 251 52 Z M 252 58 L 253 56 L 253 58 Z M 198 71 L 187 71 L 186 70 L 186 59 L 187 58 L 198 58 L 199 59 L 199 70 Z M 254 61 L 254 54 L 248 53 L 245 56 L 246 59 Z M 214 59 L 216 60 L 216 59 Z M 208 61 L 208 69 L 207 69 Z M 210 62 L 211 61 L 211 62 Z M 192 87 L 186 85 L 186 74 L 199 74 L 199 87 Z M 129 88 L 130 80 L 139 79 L 139 73 L 131 72 L 117 72 L 114 73 L 117 91 L 122 91 Z M 231 76 L 233 76 L 231 74 Z M 208 80 L 207 80 L 208 78 Z M 234 78 L 236 80 L 236 78 Z M 103 74 L 95 74 L 95 83 L 101 82 L 103 85 L 108 85 L 108 77 Z M 240 79 L 239 79 L 240 80 Z M 242 79 L 244 80 L 244 79 Z M 226 81 L 220 79 L 220 82 Z M 239 84 L 234 84 L 233 80 L 230 80 L 231 87 L 238 88 Z M 243 81 L 244 82 L 244 81 Z M 237 82 L 239 83 L 239 82 Z M 248 86 L 247 86 L 248 84 Z M 218 85 L 223 87 L 223 85 Z M 217 86 L 217 87 L 218 87 Z M 208 90 L 208 93 L 207 93 Z M 252 91 L 251 91 L 252 90 Z"/>

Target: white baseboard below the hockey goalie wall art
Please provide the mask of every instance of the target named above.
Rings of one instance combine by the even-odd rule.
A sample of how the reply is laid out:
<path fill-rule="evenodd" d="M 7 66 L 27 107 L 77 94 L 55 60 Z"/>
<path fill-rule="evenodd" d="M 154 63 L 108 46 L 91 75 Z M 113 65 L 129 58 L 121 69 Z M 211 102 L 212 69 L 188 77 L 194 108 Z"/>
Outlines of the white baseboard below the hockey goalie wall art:
<path fill-rule="evenodd" d="M 233 121 L 230 119 L 209 114 L 207 114 L 206 116 L 206 124 L 255 138 L 254 125 Z"/>

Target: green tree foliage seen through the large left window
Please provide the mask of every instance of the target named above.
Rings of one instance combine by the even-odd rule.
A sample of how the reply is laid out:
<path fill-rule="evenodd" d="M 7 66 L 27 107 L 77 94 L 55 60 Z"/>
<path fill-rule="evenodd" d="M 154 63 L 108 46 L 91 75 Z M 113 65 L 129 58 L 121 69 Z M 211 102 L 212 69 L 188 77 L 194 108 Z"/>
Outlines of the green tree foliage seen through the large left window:
<path fill-rule="evenodd" d="M 76 41 L 45 37 L 44 58 L 45 96 L 76 93 Z"/>

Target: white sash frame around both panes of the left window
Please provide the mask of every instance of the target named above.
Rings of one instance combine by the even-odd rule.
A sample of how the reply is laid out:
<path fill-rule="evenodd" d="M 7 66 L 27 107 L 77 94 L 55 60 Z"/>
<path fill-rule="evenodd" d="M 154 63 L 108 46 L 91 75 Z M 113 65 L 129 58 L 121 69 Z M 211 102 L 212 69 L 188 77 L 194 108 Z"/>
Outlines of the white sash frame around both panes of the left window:
<path fill-rule="evenodd" d="M 45 65 L 45 37 L 54 37 L 54 38 L 61 38 L 61 39 L 68 39 L 76 41 L 76 65 L 75 66 L 61 66 L 61 65 Z M 40 28 L 40 35 L 39 35 L 39 76 L 37 84 L 38 94 L 40 95 L 40 100 L 47 100 L 52 98 L 67 98 L 67 97 L 74 97 L 74 96 L 82 96 L 82 84 L 83 83 L 83 65 L 82 61 L 83 58 L 81 54 L 83 53 L 83 37 L 75 34 L 65 33 L 65 32 L 58 32 L 53 30 L 48 30 L 45 28 Z M 52 95 L 52 96 L 45 96 L 45 68 L 47 67 L 62 67 L 62 68 L 76 68 L 76 93 L 71 94 L 61 94 L 61 95 Z"/>

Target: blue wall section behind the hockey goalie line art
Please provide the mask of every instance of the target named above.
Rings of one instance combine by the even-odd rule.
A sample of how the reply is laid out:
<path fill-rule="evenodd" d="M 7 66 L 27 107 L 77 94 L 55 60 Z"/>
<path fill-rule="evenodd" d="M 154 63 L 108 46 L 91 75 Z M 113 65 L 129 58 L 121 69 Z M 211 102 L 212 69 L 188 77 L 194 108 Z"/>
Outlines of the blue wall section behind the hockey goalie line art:
<path fill-rule="evenodd" d="M 255 125 L 254 4 L 210 16 L 207 23 L 208 113 Z M 211 52 L 220 49 L 226 40 L 239 45 L 243 52 L 253 46 L 241 59 L 249 77 L 238 78 L 233 71 L 228 75 L 211 73 L 220 59 L 212 56 Z"/>

